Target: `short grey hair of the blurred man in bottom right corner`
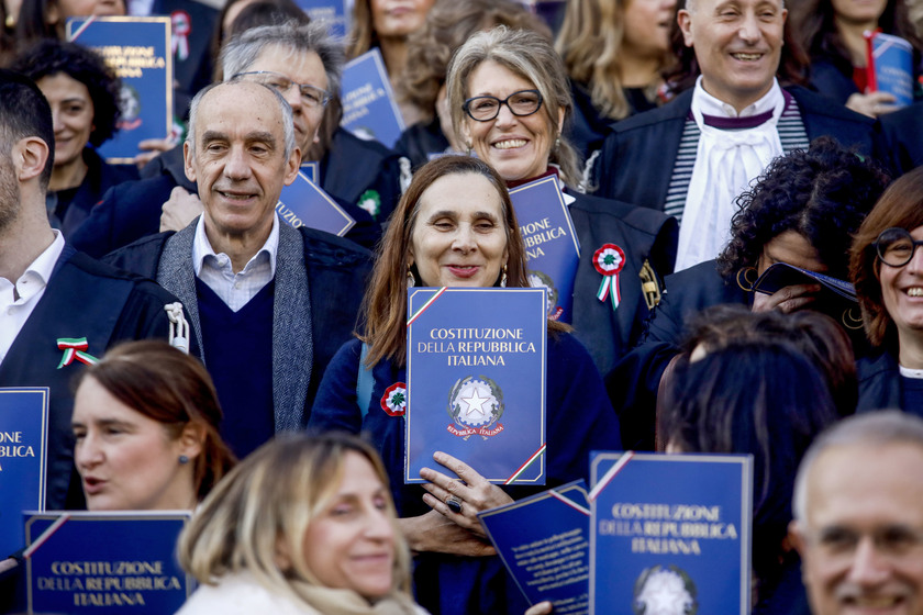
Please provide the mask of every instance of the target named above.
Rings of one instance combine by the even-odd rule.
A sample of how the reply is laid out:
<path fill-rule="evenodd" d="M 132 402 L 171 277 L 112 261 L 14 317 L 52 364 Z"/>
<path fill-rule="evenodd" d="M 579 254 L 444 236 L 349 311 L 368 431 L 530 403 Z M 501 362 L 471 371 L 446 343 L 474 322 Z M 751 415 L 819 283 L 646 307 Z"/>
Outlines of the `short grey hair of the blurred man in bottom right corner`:
<path fill-rule="evenodd" d="M 881 410 L 850 416 L 823 432 L 808 448 L 798 468 L 792 496 L 794 518 L 801 523 L 808 521 L 808 477 L 814 461 L 825 450 L 837 446 L 893 444 L 916 445 L 923 449 L 923 418 L 899 410 Z"/>

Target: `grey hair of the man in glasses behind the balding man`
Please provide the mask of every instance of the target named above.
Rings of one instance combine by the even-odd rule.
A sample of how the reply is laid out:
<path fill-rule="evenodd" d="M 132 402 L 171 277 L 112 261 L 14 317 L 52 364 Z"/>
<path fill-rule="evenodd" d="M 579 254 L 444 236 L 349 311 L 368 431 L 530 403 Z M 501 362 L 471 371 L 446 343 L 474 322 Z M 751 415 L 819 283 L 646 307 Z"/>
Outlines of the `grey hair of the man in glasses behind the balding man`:
<path fill-rule="evenodd" d="M 291 20 L 281 25 L 252 27 L 234 35 L 221 51 L 219 63 L 224 70 L 224 78 L 230 79 L 248 69 L 259 54 L 271 46 L 287 49 L 290 55 L 309 52 L 318 54 L 327 77 L 326 90 L 335 97 L 340 96 L 346 55 L 343 45 L 330 35 L 326 25 L 321 22 L 303 24 Z"/>

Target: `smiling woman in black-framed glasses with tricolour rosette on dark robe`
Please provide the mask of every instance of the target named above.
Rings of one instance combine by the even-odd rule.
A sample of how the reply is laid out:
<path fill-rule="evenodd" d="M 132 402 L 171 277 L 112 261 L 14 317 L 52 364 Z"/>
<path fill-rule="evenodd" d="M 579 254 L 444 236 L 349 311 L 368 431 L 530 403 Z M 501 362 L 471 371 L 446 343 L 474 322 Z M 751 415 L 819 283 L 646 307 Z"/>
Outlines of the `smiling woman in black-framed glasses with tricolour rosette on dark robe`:
<path fill-rule="evenodd" d="M 570 86 L 564 62 L 541 34 L 501 25 L 472 35 L 452 58 L 446 82 L 457 141 L 497 169 L 508 188 L 558 178 L 580 244 L 571 324 L 607 373 L 637 340 L 660 277 L 672 271 L 676 220 L 575 189 L 582 178 L 565 136 Z M 613 245 L 623 253 L 618 308 L 597 297 L 603 276 L 594 254 Z"/>

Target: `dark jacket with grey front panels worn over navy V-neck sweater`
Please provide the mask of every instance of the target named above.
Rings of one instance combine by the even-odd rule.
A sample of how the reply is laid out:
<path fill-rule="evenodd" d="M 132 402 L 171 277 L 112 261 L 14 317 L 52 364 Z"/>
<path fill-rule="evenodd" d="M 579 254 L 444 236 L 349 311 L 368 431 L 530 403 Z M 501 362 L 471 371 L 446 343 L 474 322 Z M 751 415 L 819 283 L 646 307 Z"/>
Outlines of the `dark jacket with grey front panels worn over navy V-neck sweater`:
<path fill-rule="evenodd" d="M 107 260 L 153 278 L 181 298 L 201 348 L 192 264 L 197 223 L 179 233 L 140 239 Z M 327 364 L 353 337 L 370 270 L 371 255 L 353 242 L 304 226 L 294 230 L 279 225 L 273 308 L 276 432 L 307 425 Z"/>

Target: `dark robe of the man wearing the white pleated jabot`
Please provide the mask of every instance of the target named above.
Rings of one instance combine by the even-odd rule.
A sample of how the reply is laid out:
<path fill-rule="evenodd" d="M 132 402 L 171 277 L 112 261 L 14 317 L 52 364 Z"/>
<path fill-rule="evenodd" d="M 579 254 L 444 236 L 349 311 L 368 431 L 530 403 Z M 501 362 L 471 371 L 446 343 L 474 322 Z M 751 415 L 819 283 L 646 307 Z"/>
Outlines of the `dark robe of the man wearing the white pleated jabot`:
<path fill-rule="evenodd" d="M 786 88 L 798 102 L 808 138 L 830 135 L 846 146 L 872 152 L 872 120 L 804 88 Z M 593 170 L 596 193 L 664 210 L 679 141 L 692 104 L 687 90 L 667 104 L 612 124 Z"/>

